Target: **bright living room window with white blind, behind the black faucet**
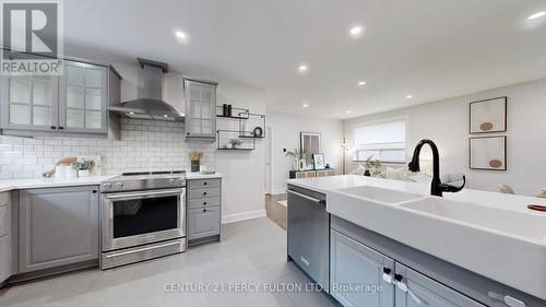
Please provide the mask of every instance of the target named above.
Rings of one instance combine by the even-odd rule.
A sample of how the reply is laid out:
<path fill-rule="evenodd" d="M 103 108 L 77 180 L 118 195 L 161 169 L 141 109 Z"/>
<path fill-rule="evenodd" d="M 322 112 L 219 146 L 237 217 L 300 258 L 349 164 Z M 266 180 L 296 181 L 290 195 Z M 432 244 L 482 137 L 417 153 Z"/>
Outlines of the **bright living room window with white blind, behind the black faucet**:
<path fill-rule="evenodd" d="M 406 162 L 406 121 L 395 120 L 353 128 L 353 161 L 369 157 L 385 163 Z"/>

